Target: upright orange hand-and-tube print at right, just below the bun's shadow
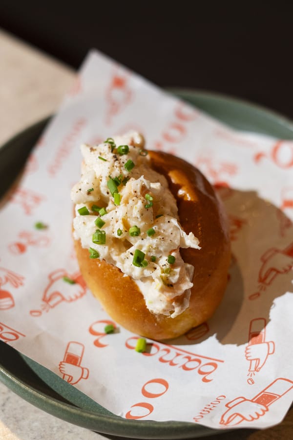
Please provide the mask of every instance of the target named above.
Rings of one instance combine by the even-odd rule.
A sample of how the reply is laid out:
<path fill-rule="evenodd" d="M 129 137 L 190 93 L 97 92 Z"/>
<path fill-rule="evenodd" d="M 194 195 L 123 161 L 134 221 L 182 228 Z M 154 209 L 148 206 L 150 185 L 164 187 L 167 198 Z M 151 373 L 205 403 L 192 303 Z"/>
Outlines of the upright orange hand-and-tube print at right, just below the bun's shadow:
<path fill-rule="evenodd" d="M 245 349 L 245 357 L 250 362 L 249 379 L 247 382 L 252 385 L 252 376 L 265 365 L 269 354 L 274 353 L 274 343 L 266 342 L 266 320 L 264 318 L 252 319 L 249 328 L 248 346 Z"/>

